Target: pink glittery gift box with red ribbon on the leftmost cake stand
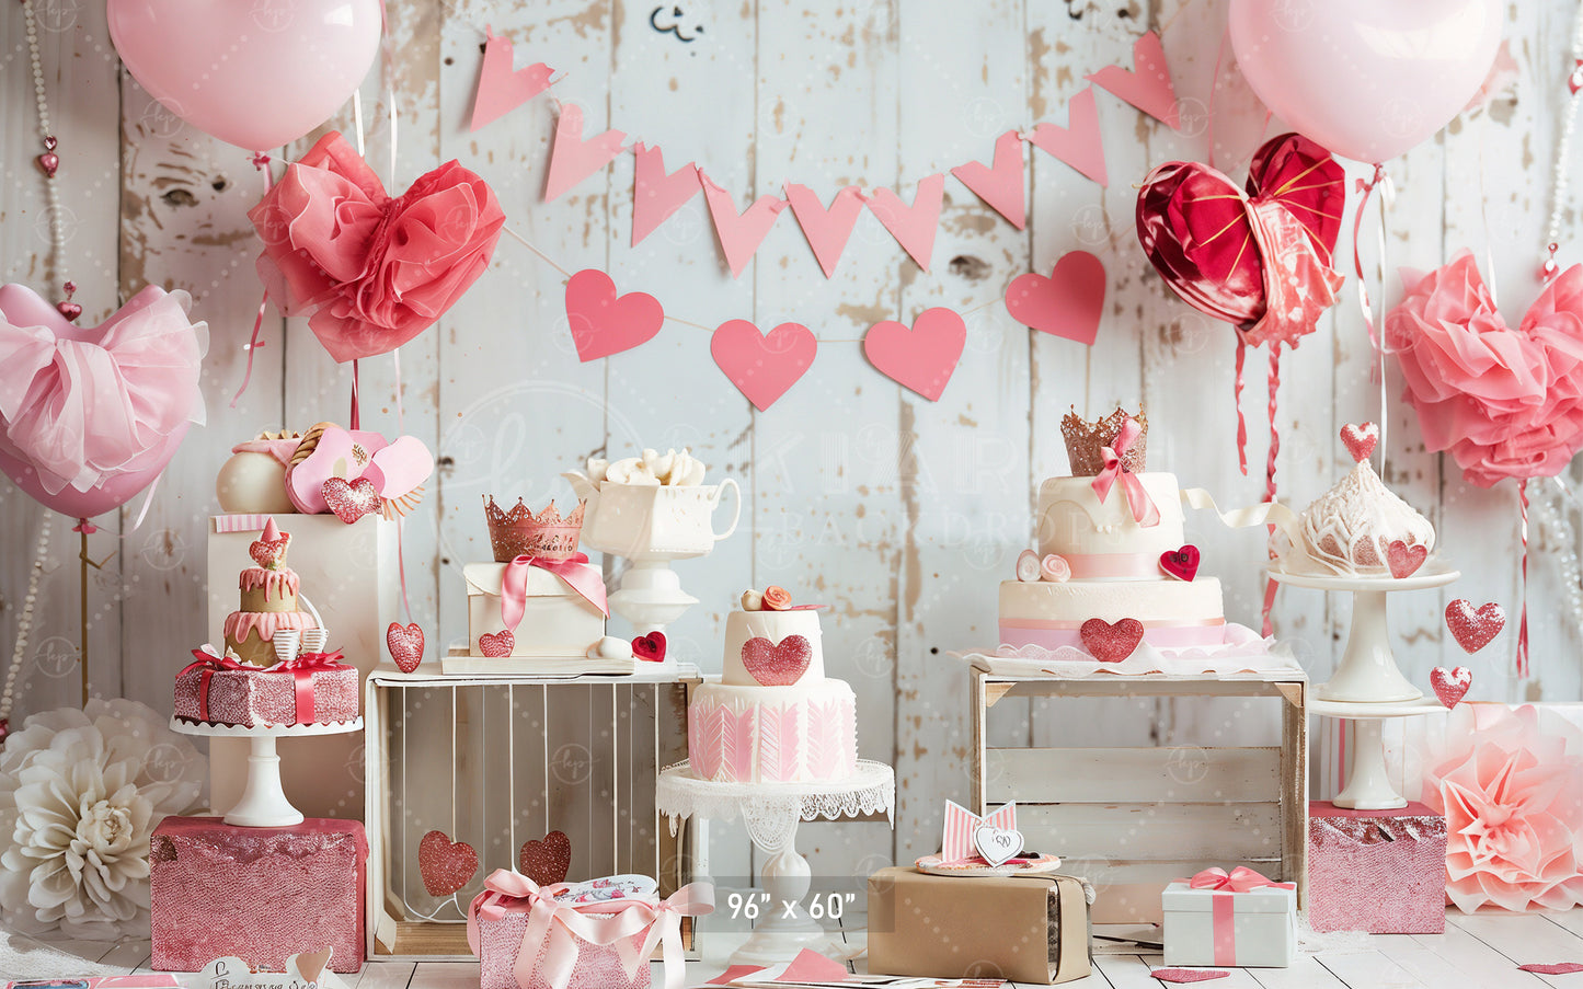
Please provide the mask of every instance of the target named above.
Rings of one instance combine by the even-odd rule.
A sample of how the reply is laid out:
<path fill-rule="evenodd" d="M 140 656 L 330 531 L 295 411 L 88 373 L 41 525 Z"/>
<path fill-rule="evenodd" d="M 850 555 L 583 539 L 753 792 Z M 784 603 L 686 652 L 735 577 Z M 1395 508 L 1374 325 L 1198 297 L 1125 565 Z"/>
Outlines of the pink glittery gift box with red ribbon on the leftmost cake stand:
<path fill-rule="evenodd" d="M 204 674 L 209 695 L 203 696 Z M 298 676 L 310 677 L 313 717 L 299 717 Z M 207 703 L 207 707 L 204 704 Z M 176 677 L 176 717 L 211 725 L 301 725 L 307 722 L 350 722 L 358 717 L 358 669 L 318 669 L 312 673 L 271 673 L 255 669 L 188 669 Z"/>

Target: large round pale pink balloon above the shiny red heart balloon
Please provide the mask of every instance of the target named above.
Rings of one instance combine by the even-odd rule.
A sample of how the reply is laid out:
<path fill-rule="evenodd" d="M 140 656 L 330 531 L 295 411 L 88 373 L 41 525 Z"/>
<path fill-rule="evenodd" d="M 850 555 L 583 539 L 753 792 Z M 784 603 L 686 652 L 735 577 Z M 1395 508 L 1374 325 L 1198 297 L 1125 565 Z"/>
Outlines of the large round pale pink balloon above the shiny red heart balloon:
<path fill-rule="evenodd" d="M 1499 0 L 1232 0 L 1232 51 L 1273 114 L 1357 161 L 1395 158 L 1490 74 Z"/>

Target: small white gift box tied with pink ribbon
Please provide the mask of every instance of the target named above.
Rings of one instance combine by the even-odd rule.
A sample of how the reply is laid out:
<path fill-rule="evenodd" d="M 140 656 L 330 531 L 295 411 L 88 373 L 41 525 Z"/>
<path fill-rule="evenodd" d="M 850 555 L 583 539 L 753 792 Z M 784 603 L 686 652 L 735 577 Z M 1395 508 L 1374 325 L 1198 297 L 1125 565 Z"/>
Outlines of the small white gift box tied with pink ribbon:
<path fill-rule="evenodd" d="M 1160 894 L 1165 964 L 1285 968 L 1296 959 L 1296 885 L 1238 866 L 1205 869 Z"/>

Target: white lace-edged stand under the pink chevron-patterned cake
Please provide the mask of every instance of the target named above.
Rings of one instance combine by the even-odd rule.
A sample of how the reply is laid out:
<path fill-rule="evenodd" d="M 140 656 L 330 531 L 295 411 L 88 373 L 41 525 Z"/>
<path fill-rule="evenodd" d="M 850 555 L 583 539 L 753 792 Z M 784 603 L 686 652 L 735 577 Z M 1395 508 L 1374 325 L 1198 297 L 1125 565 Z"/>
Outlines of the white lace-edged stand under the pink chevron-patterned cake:
<path fill-rule="evenodd" d="M 812 873 L 807 859 L 796 850 L 796 826 L 801 821 L 834 821 L 882 810 L 890 820 L 896 810 L 896 772 L 885 763 L 858 760 L 858 771 L 845 780 L 716 783 L 700 780 L 692 775 L 690 764 L 679 763 L 660 772 L 654 804 L 671 818 L 671 836 L 684 817 L 731 821 L 741 815 L 747 836 L 768 856 L 760 870 L 769 896 L 765 919 L 731 956 L 733 965 L 788 962 L 804 948 L 839 957 L 844 949 L 803 907 L 803 897 L 812 886 Z"/>

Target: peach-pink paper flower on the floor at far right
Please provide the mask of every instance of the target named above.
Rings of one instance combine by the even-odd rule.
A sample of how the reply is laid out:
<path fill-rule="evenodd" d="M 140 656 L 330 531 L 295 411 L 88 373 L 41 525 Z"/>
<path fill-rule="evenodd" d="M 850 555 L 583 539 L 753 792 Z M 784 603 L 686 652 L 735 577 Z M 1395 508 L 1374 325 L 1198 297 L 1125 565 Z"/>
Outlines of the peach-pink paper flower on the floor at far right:
<path fill-rule="evenodd" d="M 1445 815 L 1445 896 L 1461 910 L 1583 904 L 1583 733 L 1534 706 L 1464 704 L 1426 761 Z"/>

